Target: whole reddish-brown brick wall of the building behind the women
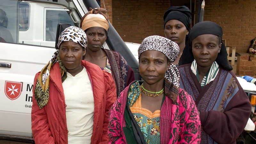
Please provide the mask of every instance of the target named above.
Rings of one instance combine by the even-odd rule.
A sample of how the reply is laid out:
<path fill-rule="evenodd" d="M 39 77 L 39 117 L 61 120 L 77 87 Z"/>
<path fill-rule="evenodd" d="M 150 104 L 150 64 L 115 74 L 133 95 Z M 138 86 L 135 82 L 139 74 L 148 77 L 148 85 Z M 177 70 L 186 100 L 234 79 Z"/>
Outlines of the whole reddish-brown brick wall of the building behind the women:
<path fill-rule="evenodd" d="M 170 0 L 101 0 L 101 7 L 103 2 L 110 21 L 124 41 L 141 43 L 150 35 L 164 36 L 163 14 Z M 255 0 L 206 0 L 204 20 L 218 23 L 227 45 L 245 53 L 256 37 L 255 13 Z"/>

